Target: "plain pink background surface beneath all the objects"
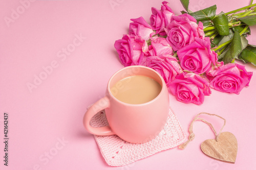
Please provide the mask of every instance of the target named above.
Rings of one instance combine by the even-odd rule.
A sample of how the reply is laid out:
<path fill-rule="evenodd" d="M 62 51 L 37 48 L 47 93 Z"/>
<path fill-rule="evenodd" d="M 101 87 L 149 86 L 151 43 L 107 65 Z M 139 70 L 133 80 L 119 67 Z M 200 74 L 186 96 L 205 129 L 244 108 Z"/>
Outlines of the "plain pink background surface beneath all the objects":
<path fill-rule="evenodd" d="M 180 103 L 170 94 L 170 106 L 187 134 L 191 120 L 200 112 L 215 113 L 226 119 L 223 131 L 233 133 L 238 139 L 235 164 L 223 163 L 202 153 L 200 144 L 214 138 L 212 130 L 202 122 L 194 124 L 196 138 L 185 150 L 169 149 L 124 167 L 108 166 L 93 135 L 84 130 L 82 117 L 87 107 L 102 98 L 109 78 L 123 67 L 114 48 L 115 40 L 127 33 L 130 18 L 143 16 L 149 22 L 151 7 L 160 9 L 161 2 L 35 1 L 27 4 L 25 9 L 20 7 L 22 3 L 19 1 L 0 1 L 1 169 L 210 170 L 256 167 L 255 74 L 250 86 L 239 95 L 212 90 L 200 106 Z M 183 10 L 178 0 L 169 0 L 169 3 L 176 14 Z M 190 0 L 190 9 L 196 11 L 214 4 L 218 13 L 228 12 L 248 5 L 249 0 L 235 3 Z M 20 14 L 12 14 L 17 10 Z M 7 24 L 7 17 L 14 19 Z M 256 45 L 256 28 L 251 27 L 251 30 L 249 43 Z M 74 41 L 79 35 L 86 38 L 81 42 Z M 72 52 L 65 55 L 62 49 L 67 47 Z M 52 70 L 48 67 L 51 64 Z M 49 74 L 44 74 L 44 68 L 49 68 Z M 256 71 L 255 68 L 246 64 L 248 71 Z M 27 84 L 33 83 L 35 76 L 45 80 L 37 82 L 30 92 Z M 9 113 L 8 167 L 3 165 L 4 112 Z M 217 131 L 220 130 L 221 119 L 206 118 Z M 56 152 L 47 158 L 45 154 L 50 151 Z"/>

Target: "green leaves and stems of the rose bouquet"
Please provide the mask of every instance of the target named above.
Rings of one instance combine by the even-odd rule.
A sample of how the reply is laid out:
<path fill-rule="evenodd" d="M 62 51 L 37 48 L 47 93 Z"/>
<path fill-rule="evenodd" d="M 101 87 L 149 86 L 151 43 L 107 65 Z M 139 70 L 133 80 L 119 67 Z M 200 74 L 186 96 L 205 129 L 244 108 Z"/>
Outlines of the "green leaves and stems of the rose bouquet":
<path fill-rule="evenodd" d="M 196 12 L 188 9 L 189 0 L 180 0 L 186 11 L 197 23 L 202 22 L 206 37 L 210 37 L 211 48 L 218 53 L 219 61 L 225 64 L 234 59 L 252 63 L 256 66 L 256 46 L 248 44 L 249 26 L 256 25 L 256 4 L 230 12 L 216 14 L 217 6 L 211 6 Z"/>

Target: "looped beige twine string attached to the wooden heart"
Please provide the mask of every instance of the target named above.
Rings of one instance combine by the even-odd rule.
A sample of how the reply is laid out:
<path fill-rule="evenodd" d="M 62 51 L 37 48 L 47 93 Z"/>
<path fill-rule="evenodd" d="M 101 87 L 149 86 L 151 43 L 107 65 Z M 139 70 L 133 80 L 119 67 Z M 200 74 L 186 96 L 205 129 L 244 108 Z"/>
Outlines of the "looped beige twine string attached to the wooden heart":
<path fill-rule="evenodd" d="M 224 125 L 222 126 L 222 128 L 221 128 L 221 130 L 220 130 L 220 133 L 217 134 L 216 130 L 214 129 L 214 126 L 212 126 L 212 125 L 211 125 L 209 122 L 207 122 L 205 119 L 198 117 L 200 114 L 207 114 L 207 115 L 211 115 L 211 116 L 217 116 L 217 117 L 223 119 L 223 120 L 224 120 Z M 224 126 L 225 126 L 225 124 L 226 124 L 226 119 L 223 118 L 223 117 L 221 117 L 221 116 L 219 116 L 219 115 L 217 115 L 217 114 L 210 114 L 210 113 L 206 113 L 206 112 L 201 112 L 201 113 L 197 114 L 197 115 L 195 116 L 195 118 L 193 119 L 193 121 L 191 122 L 190 126 L 189 126 L 189 130 L 188 130 L 188 131 L 189 131 L 189 136 L 188 136 L 187 141 L 185 141 L 184 143 L 182 143 L 181 145 L 179 145 L 179 149 L 182 149 L 182 150 L 185 149 L 186 146 L 187 146 L 187 144 L 195 138 L 195 134 L 193 133 L 193 123 L 194 123 L 196 120 L 200 120 L 200 121 L 206 123 L 208 126 L 211 127 L 211 129 L 212 129 L 212 130 L 214 131 L 214 133 L 215 133 L 215 138 L 216 138 L 216 141 L 217 141 L 217 142 L 218 142 L 219 136 L 220 136 L 220 134 L 221 134 L 221 131 L 223 130 L 223 128 L 224 128 Z"/>

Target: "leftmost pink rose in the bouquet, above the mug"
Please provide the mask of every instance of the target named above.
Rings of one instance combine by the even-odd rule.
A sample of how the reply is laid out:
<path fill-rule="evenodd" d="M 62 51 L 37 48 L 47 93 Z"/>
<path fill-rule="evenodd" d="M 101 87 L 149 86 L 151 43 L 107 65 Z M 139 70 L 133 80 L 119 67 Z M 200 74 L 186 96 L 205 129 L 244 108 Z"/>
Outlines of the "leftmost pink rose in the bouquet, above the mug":
<path fill-rule="evenodd" d="M 125 67 L 140 65 L 148 53 L 147 43 L 140 36 L 123 35 L 122 39 L 116 40 L 114 46 Z"/>

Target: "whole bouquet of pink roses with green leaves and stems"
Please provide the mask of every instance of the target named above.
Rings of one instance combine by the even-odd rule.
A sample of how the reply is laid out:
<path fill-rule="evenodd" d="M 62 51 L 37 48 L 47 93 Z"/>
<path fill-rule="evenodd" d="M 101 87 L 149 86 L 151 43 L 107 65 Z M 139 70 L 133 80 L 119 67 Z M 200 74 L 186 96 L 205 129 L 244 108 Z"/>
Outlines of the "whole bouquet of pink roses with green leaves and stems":
<path fill-rule="evenodd" d="M 210 88 L 239 94 L 252 72 L 234 59 L 256 64 L 256 47 L 246 40 L 256 25 L 246 17 L 254 18 L 256 4 L 216 15 L 216 5 L 191 12 L 188 0 L 181 3 L 187 11 L 181 15 L 165 1 L 160 10 L 153 7 L 150 25 L 143 17 L 131 19 L 129 34 L 114 45 L 121 63 L 155 69 L 184 103 L 202 104 Z"/>

